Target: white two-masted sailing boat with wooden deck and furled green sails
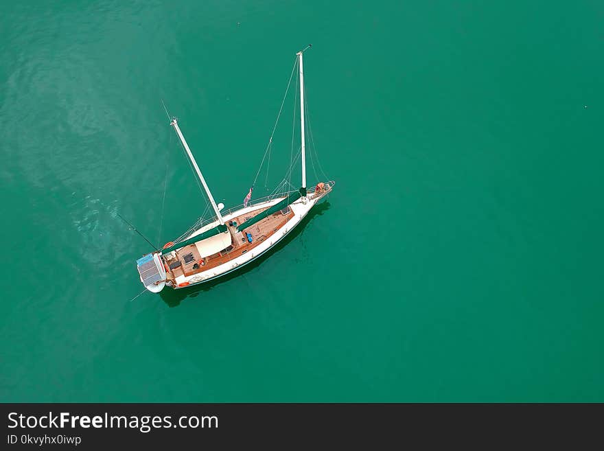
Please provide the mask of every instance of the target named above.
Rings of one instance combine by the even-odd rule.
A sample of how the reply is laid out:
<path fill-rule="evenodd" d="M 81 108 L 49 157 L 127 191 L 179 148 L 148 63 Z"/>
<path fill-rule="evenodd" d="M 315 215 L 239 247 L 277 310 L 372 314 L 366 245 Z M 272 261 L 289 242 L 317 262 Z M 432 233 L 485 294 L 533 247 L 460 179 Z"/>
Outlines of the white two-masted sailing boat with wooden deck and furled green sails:
<path fill-rule="evenodd" d="M 309 47 L 310 45 L 306 49 Z M 244 205 L 223 211 L 224 205 L 216 204 L 183 132 L 178 127 L 178 121 L 172 118 L 170 125 L 174 127 L 194 167 L 215 216 L 207 221 L 198 220 L 181 238 L 137 260 L 141 282 L 147 290 L 160 292 L 165 286 L 180 289 L 203 284 L 242 268 L 270 251 L 300 224 L 319 200 L 332 192 L 334 181 L 319 181 L 310 188 L 306 185 L 303 75 L 303 52 L 306 49 L 297 53 L 297 61 L 292 70 L 293 75 L 296 66 L 299 69 L 302 166 L 300 189 L 276 193 L 257 200 L 251 200 L 250 189 Z M 272 137 L 269 146 L 271 142 Z"/>

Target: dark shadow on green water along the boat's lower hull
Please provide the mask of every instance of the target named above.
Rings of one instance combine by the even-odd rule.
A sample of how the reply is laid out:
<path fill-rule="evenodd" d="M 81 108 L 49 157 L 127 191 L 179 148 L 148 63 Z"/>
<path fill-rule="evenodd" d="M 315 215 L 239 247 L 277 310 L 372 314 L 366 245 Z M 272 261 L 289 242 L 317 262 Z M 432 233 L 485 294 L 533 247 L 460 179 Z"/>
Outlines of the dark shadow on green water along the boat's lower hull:
<path fill-rule="evenodd" d="M 197 286 L 192 286 L 191 288 L 181 288 L 179 290 L 172 290 L 172 288 L 165 288 L 159 293 L 159 297 L 168 305 L 168 307 L 178 307 L 181 305 L 181 302 L 187 298 L 195 298 L 198 297 L 202 292 L 209 291 L 217 285 L 224 284 L 235 277 L 240 277 L 249 271 L 260 266 L 264 260 L 270 257 L 277 251 L 280 251 L 283 247 L 287 246 L 292 240 L 298 237 L 300 233 L 307 227 L 308 223 L 311 222 L 317 216 L 323 215 L 325 211 L 329 209 L 331 205 L 329 204 L 329 200 L 325 200 L 322 203 L 319 203 L 312 208 L 306 217 L 301 220 L 301 222 L 297 225 L 297 227 L 292 230 L 288 235 L 286 235 L 283 240 L 281 240 L 278 244 L 270 248 L 264 255 L 258 257 L 253 260 L 253 262 L 246 264 L 246 266 L 242 266 L 237 270 L 234 270 L 232 273 L 224 275 L 222 277 L 218 277 L 215 281 L 209 281 L 205 284 L 200 284 Z"/>

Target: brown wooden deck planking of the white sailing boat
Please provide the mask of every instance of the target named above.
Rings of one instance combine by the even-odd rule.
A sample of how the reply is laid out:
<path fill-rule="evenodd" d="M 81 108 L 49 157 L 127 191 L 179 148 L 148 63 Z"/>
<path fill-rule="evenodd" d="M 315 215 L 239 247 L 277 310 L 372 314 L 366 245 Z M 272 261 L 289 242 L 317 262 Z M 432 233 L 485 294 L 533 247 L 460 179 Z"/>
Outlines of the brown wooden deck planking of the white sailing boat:
<path fill-rule="evenodd" d="M 180 262 L 180 266 L 172 270 L 167 270 L 167 280 L 176 279 L 176 277 L 185 275 L 191 276 L 202 273 L 211 268 L 229 262 L 231 259 L 239 257 L 240 255 L 251 251 L 253 248 L 258 246 L 264 240 L 270 237 L 273 233 L 279 230 L 283 225 L 294 217 L 294 212 L 290 207 L 287 208 L 287 212 L 283 214 L 283 211 L 277 211 L 272 215 L 258 221 L 256 224 L 251 225 L 243 231 L 237 231 L 237 227 L 234 227 L 231 222 L 237 224 L 243 224 L 246 220 L 253 218 L 258 213 L 268 209 L 268 207 L 260 208 L 242 216 L 237 216 L 232 220 L 227 221 L 227 229 L 231 233 L 231 246 L 226 248 L 224 251 L 220 251 L 216 254 L 209 255 L 208 257 L 202 258 L 197 250 L 195 244 L 189 244 L 176 251 L 175 258 L 168 259 L 167 255 L 163 256 L 165 266 L 174 265 Z M 252 235 L 252 242 L 248 242 L 246 233 Z"/>

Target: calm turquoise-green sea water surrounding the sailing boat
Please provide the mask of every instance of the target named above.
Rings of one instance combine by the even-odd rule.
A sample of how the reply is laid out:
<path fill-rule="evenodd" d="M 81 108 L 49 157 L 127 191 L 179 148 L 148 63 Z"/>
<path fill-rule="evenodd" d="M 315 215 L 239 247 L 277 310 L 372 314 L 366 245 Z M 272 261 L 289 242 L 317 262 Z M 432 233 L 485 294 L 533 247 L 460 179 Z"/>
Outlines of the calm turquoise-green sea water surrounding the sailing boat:
<path fill-rule="evenodd" d="M 596 1 L 4 2 L 0 400 L 604 401 L 603 19 Z M 130 302 L 150 248 L 115 211 L 163 243 L 205 208 L 161 99 L 240 204 L 307 43 L 334 193 L 244 273 Z M 291 126 L 290 103 L 267 187 Z"/>

